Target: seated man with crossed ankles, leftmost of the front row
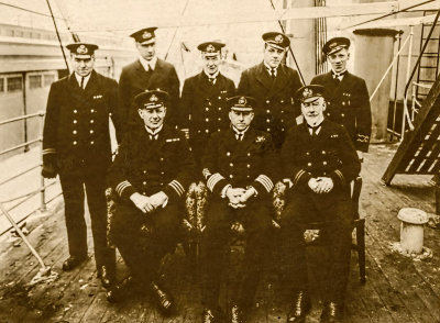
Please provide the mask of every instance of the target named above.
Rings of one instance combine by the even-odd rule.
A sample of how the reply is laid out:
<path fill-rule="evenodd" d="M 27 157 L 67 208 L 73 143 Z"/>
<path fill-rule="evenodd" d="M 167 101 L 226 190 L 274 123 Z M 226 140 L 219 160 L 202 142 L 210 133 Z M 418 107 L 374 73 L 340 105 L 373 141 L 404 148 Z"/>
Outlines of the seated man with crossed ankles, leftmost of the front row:
<path fill-rule="evenodd" d="M 144 126 L 127 132 L 108 174 L 120 198 L 112 222 L 114 244 L 131 271 L 132 282 L 152 290 L 165 313 L 173 302 L 157 281 L 157 269 L 178 242 L 185 188 L 194 171 L 184 134 L 163 124 L 168 99 L 161 90 L 135 97 Z M 133 283 L 117 286 L 108 292 L 108 300 L 121 300 L 130 287 Z"/>

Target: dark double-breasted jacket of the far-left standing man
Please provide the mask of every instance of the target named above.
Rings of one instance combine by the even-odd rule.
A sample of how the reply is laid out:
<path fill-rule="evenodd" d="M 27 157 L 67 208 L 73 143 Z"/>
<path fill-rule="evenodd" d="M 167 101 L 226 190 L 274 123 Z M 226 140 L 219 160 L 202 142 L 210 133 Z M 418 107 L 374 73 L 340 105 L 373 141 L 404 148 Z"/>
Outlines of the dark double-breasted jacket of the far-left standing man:
<path fill-rule="evenodd" d="M 43 159 L 59 174 L 84 166 L 106 171 L 111 163 L 109 115 L 120 134 L 119 92 L 116 80 L 91 73 L 86 89 L 75 75 L 51 86 L 43 131 Z"/>

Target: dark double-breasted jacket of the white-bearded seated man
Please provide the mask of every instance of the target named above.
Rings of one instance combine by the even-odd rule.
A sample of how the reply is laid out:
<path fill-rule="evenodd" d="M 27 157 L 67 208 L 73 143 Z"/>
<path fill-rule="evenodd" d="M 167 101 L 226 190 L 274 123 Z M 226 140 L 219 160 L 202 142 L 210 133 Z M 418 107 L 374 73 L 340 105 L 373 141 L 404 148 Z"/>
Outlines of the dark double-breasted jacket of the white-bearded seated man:
<path fill-rule="evenodd" d="M 293 193 L 306 194 L 318 208 L 326 208 L 338 199 L 350 199 L 350 182 L 361 170 L 356 151 L 346 130 L 324 120 L 317 135 L 310 135 L 307 123 L 287 133 L 282 148 L 284 178 L 293 182 Z M 310 178 L 330 177 L 330 193 L 315 193 L 308 186 Z"/>

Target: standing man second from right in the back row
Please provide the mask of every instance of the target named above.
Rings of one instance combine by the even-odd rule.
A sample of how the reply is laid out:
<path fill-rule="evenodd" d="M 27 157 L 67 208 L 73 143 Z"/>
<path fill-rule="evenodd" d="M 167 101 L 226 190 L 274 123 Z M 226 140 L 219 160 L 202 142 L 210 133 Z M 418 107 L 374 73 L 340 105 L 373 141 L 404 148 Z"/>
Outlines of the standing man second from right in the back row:
<path fill-rule="evenodd" d="M 272 134 L 278 149 L 285 133 L 294 124 L 298 108 L 293 96 L 301 87 L 298 73 L 282 64 L 289 47 L 289 38 L 277 32 L 263 34 L 264 58 L 241 75 L 238 93 L 256 99 L 255 129 Z"/>

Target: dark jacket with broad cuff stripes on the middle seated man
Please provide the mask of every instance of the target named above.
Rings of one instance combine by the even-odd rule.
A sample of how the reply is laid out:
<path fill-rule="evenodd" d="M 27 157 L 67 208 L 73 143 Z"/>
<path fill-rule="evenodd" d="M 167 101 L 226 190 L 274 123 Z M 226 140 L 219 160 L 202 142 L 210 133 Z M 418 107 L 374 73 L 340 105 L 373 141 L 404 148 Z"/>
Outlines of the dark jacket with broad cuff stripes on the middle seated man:
<path fill-rule="evenodd" d="M 274 187 L 275 155 L 270 134 L 250 127 L 242 141 L 230 129 L 209 138 L 202 159 L 208 189 L 220 197 L 227 185 L 253 186 L 260 197 L 268 197 Z"/>

